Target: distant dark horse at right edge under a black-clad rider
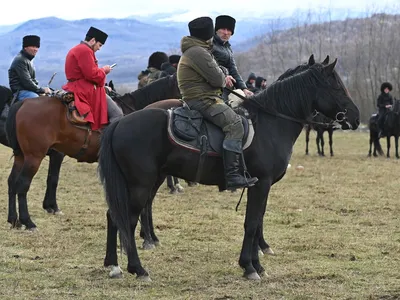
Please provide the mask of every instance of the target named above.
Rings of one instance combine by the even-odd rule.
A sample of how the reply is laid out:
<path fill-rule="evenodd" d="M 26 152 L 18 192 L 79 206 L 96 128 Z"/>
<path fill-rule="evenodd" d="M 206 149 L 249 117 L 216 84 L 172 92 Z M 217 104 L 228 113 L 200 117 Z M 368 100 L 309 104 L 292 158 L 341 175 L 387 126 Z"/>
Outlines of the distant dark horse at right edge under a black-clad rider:
<path fill-rule="evenodd" d="M 378 115 L 374 114 L 369 119 L 369 152 L 368 156 L 377 157 L 379 155 L 384 155 L 381 143 L 379 142 L 379 125 L 378 125 Z M 399 136 L 400 136 L 400 100 L 395 99 L 393 103 L 393 108 L 389 110 L 386 114 L 384 127 L 382 130 L 382 136 L 386 136 L 387 142 L 387 152 L 386 157 L 390 158 L 390 138 L 394 137 L 395 143 L 395 155 L 399 159 Z M 374 149 L 372 151 L 372 145 Z M 377 154 L 378 152 L 378 154 Z"/>

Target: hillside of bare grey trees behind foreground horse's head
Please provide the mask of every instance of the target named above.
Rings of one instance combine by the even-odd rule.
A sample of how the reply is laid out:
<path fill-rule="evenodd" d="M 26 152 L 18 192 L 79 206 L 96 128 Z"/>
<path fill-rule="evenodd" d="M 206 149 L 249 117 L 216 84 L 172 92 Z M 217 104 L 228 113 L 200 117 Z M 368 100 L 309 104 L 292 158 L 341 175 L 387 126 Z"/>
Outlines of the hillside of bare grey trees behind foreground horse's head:
<path fill-rule="evenodd" d="M 271 83 L 311 54 L 316 60 L 338 58 L 337 71 L 367 122 L 376 111 L 382 82 L 391 82 L 392 94 L 400 98 L 400 15 L 366 14 L 371 16 L 315 24 L 315 18 L 329 20 L 329 12 L 324 13 L 328 16 L 298 15 L 289 30 L 275 30 L 279 20 L 271 22 L 269 33 L 255 38 L 257 46 L 235 54 L 238 68 L 245 80 L 254 72 Z"/>

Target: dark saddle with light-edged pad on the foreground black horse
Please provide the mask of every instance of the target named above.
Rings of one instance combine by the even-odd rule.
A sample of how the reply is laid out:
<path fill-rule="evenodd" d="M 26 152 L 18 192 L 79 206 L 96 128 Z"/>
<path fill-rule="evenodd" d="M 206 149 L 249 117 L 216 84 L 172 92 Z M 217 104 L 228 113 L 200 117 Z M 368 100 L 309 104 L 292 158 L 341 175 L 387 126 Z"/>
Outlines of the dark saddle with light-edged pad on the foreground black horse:
<path fill-rule="evenodd" d="M 247 113 L 247 111 L 243 111 Z M 254 137 L 252 121 L 240 115 L 244 127 L 243 150 L 247 149 Z M 225 135 L 221 128 L 203 119 L 196 110 L 187 105 L 168 109 L 168 137 L 176 146 L 207 156 L 222 156 L 222 142 Z"/>

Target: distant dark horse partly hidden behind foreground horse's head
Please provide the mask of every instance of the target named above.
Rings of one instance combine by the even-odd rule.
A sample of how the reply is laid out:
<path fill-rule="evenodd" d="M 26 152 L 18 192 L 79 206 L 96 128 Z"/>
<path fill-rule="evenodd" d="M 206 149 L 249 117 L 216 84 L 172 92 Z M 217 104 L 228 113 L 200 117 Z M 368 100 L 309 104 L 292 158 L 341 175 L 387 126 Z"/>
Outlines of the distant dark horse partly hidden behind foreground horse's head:
<path fill-rule="evenodd" d="M 332 120 L 324 116 L 323 114 L 319 112 L 315 112 L 312 118 L 312 123 L 307 124 L 305 126 L 306 130 L 306 155 L 308 155 L 308 143 L 310 142 L 310 132 L 311 130 L 315 130 L 317 132 L 317 138 L 316 138 L 316 143 L 317 143 L 317 149 L 318 149 L 318 155 L 319 156 L 325 156 L 324 152 L 324 146 L 325 146 L 325 141 L 324 141 L 324 132 L 328 132 L 329 136 L 329 149 L 330 149 L 330 154 L 333 156 L 333 131 L 336 130 L 336 127 L 331 124 Z"/>

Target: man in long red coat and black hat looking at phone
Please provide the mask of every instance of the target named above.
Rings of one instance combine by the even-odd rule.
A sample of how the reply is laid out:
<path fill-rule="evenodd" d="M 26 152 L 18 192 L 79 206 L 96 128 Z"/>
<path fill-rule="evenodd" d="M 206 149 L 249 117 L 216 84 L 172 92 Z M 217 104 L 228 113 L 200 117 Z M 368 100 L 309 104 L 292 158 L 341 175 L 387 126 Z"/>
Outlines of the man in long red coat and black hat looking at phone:
<path fill-rule="evenodd" d="M 68 52 L 65 61 L 68 83 L 62 88 L 74 93 L 75 106 L 80 115 L 91 123 L 92 130 L 106 126 L 108 119 L 113 121 L 122 116 L 115 102 L 111 98 L 107 100 L 104 89 L 106 75 L 112 68 L 109 65 L 99 68 L 95 56 L 107 37 L 103 31 L 90 27 L 85 40 Z"/>

